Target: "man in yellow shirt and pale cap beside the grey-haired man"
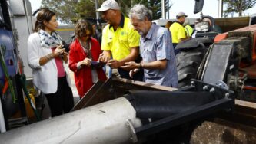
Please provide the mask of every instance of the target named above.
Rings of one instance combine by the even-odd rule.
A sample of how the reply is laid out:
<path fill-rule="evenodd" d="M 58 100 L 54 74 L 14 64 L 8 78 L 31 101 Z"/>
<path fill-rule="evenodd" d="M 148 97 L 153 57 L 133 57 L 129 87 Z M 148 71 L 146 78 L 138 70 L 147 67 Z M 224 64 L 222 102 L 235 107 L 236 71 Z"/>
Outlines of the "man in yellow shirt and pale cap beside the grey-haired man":
<path fill-rule="evenodd" d="M 101 11 L 101 17 L 108 23 L 102 31 L 103 52 L 99 61 L 106 63 L 112 69 L 118 69 L 122 78 L 131 79 L 129 70 L 121 66 L 128 61 L 139 61 L 140 35 L 134 30 L 130 19 L 121 14 L 121 8 L 115 0 L 103 2 L 97 11 Z M 140 70 L 133 80 L 142 81 L 143 70 Z"/>

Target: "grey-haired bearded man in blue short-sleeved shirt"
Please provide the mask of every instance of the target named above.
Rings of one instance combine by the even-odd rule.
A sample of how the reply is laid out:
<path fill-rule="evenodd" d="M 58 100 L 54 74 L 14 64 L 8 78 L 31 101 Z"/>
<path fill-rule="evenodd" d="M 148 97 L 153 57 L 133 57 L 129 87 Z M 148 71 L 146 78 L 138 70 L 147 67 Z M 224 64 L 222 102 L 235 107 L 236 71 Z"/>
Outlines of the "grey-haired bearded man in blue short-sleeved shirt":
<path fill-rule="evenodd" d="M 152 23 L 152 13 L 144 5 L 135 5 L 129 13 L 131 24 L 141 34 L 141 63 L 126 62 L 132 77 L 140 68 L 144 69 L 145 82 L 167 87 L 177 87 L 178 74 L 171 33 Z"/>

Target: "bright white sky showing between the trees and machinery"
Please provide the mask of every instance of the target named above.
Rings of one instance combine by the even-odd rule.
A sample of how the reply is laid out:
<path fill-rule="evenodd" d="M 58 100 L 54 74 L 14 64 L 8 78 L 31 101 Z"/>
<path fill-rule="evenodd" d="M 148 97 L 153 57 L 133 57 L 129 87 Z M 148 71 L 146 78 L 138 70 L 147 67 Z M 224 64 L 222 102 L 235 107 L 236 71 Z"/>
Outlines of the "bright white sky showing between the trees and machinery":
<path fill-rule="evenodd" d="M 29 0 L 32 5 L 32 11 L 40 8 L 41 0 Z M 85 0 L 88 1 L 88 0 Z M 200 14 L 194 15 L 194 0 L 170 0 L 173 4 L 170 9 L 170 18 L 175 18 L 175 15 L 178 12 L 183 11 L 188 18 L 199 18 Z M 254 8 L 248 9 L 244 11 L 243 15 L 251 15 L 256 13 L 256 5 Z M 218 18 L 218 0 L 204 0 L 204 8 L 203 8 L 204 15 L 211 15 L 214 18 Z M 234 14 L 234 17 L 238 16 L 238 14 Z"/>

